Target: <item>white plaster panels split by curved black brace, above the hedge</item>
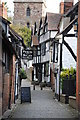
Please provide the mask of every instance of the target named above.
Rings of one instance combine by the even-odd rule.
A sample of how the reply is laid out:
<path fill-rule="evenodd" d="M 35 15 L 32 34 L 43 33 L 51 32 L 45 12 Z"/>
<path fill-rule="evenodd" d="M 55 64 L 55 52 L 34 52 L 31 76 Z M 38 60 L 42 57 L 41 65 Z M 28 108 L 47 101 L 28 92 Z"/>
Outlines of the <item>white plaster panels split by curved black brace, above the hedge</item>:
<path fill-rule="evenodd" d="M 73 31 L 73 28 L 70 32 L 72 31 Z M 64 39 L 69 44 L 69 46 L 72 48 L 75 55 L 77 55 L 77 38 L 76 37 L 65 37 Z M 76 68 L 76 62 L 65 45 L 63 45 L 62 63 L 63 63 L 63 68 L 70 68 L 70 67 Z"/>

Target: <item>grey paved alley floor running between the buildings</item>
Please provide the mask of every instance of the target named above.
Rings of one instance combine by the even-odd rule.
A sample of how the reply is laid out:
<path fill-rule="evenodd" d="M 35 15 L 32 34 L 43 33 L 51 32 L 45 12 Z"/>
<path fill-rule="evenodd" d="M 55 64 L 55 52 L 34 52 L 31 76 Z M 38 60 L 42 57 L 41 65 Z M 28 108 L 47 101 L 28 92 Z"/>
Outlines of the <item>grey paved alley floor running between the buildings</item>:
<path fill-rule="evenodd" d="M 51 88 L 40 90 L 36 86 L 33 90 L 31 85 L 31 103 L 19 101 L 9 118 L 77 118 L 77 112 L 68 104 L 58 102 Z"/>

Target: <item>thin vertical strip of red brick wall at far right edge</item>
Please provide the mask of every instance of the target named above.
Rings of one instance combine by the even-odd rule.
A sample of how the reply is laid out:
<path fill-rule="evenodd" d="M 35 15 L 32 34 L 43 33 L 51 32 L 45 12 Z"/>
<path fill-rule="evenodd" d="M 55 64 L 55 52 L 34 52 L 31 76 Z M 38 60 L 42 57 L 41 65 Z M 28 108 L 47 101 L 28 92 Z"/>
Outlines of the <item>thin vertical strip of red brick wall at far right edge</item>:
<path fill-rule="evenodd" d="M 76 79 L 76 98 L 80 112 L 80 1 L 78 7 L 78 40 L 77 40 L 77 79 Z"/>

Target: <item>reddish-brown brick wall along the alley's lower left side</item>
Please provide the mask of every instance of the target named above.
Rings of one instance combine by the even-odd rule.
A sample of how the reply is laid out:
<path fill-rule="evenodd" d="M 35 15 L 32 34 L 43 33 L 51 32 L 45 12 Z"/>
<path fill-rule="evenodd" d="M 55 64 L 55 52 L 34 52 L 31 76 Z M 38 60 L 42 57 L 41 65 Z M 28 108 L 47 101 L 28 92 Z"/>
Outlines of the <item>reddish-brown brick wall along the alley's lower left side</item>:
<path fill-rule="evenodd" d="M 10 58 L 10 72 L 3 71 L 3 99 L 2 99 L 2 112 L 11 108 L 14 104 L 14 83 L 15 83 L 15 56 Z"/>

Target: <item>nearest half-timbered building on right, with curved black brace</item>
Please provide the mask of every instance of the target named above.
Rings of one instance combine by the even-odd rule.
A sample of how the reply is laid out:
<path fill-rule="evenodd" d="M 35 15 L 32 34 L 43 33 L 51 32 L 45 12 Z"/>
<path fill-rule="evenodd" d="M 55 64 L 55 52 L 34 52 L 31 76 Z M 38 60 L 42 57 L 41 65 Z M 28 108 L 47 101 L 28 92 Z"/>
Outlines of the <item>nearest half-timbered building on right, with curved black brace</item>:
<path fill-rule="evenodd" d="M 55 73 L 55 95 L 60 100 L 60 73 L 63 69 L 76 68 L 78 3 L 68 10 L 59 24 L 59 33 L 53 40 L 53 64 Z M 55 45 L 56 44 L 56 45 Z M 57 53 L 57 54 L 56 54 Z M 57 56 L 57 57 L 56 57 Z M 57 59 L 56 59 L 57 58 Z M 56 63 L 56 60 L 58 62 Z"/>

